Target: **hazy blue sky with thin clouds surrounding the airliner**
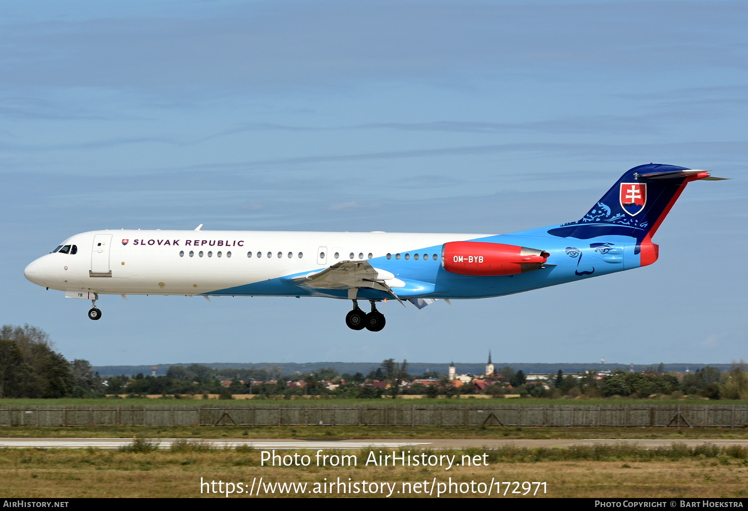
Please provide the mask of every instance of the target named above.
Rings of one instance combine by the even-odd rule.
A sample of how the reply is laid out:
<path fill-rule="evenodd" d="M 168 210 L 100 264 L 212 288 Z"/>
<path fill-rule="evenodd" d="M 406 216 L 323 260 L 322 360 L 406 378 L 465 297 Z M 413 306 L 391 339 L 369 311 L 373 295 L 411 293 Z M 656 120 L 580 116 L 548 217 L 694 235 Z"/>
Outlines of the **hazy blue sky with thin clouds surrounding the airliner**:
<path fill-rule="evenodd" d="M 746 353 L 748 4 L 23 1 L 0 11 L 3 323 L 70 359 L 731 362 Z M 651 267 L 512 297 L 105 297 L 23 267 L 93 229 L 512 232 L 628 168 L 714 169 Z"/>

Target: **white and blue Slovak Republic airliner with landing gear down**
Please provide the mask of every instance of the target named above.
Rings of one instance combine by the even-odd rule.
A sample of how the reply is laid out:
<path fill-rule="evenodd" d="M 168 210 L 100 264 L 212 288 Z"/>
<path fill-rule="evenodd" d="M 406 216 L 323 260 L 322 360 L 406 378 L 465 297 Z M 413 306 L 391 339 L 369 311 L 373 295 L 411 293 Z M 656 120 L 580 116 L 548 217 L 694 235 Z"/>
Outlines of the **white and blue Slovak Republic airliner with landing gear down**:
<path fill-rule="evenodd" d="M 580 220 L 508 235 L 387 232 L 103 230 L 63 241 L 26 279 L 91 300 L 100 295 L 328 297 L 352 300 L 346 324 L 384 328 L 381 300 L 498 297 L 657 260 L 652 235 L 688 182 L 708 171 L 628 170 Z M 371 312 L 358 307 L 369 300 Z"/>

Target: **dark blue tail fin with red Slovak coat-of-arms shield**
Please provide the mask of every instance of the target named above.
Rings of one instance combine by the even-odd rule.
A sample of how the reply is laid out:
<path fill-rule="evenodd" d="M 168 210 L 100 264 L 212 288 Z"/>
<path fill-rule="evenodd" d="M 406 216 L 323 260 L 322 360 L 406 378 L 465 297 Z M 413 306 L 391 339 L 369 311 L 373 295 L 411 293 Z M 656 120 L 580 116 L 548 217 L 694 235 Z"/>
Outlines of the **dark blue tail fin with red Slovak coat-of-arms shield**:
<path fill-rule="evenodd" d="M 548 230 L 560 238 L 587 240 L 605 235 L 649 240 L 688 182 L 705 179 L 705 170 L 647 164 L 628 170 L 592 209 L 576 222 Z M 714 179 L 714 178 L 712 178 Z"/>

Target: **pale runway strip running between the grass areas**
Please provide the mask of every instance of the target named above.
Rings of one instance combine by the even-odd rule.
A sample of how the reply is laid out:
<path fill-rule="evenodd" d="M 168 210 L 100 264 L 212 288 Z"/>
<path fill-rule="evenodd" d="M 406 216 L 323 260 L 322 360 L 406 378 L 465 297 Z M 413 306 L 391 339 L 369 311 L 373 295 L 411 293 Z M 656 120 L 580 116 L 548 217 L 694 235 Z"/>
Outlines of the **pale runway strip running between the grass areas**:
<path fill-rule="evenodd" d="M 158 443 L 159 448 L 168 449 L 174 442 L 197 442 L 216 448 L 236 448 L 239 446 L 254 447 L 255 449 L 364 449 L 367 447 L 402 449 L 403 447 L 419 447 L 421 449 L 459 449 L 462 447 L 481 447 L 496 449 L 513 445 L 515 447 L 570 447 L 572 445 L 615 445 L 626 443 L 641 447 L 669 447 L 673 443 L 685 444 L 689 447 L 696 445 L 743 445 L 748 447 L 748 440 L 734 439 L 684 439 L 684 440 L 644 440 L 644 439 L 395 439 L 395 440 L 298 440 L 298 439 L 149 439 Z M 0 447 L 40 447 L 83 449 L 98 447 L 99 449 L 118 449 L 132 444 L 132 439 L 0 439 Z"/>

